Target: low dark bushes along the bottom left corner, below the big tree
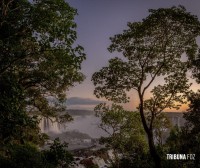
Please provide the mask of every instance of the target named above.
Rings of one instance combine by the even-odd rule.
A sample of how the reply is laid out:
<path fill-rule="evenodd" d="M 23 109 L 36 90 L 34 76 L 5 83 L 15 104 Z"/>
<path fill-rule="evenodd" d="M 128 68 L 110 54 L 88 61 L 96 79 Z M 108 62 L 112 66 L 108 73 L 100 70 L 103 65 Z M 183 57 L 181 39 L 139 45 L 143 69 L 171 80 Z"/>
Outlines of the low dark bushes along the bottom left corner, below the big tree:
<path fill-rule="evenodd" d="M 66 150 L 66 144 L 61 144 L 58 139 L 50 146 L 49 150 L 39 151 L 38 147 L 27 143 L 24 145 L 11 145 L 7 153 L 0 154 L 0 167 L 3 168 L 67 168 L 73 160 L 72 155 Z"/>

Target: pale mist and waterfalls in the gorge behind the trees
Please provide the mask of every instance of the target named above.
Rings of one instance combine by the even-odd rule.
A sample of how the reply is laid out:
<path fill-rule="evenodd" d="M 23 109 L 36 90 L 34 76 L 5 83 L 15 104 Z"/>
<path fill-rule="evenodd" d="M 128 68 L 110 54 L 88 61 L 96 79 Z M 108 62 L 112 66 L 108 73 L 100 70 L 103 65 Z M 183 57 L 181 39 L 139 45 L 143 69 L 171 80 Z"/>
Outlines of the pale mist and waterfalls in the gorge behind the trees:
<path fill-rule="evenodd" d="M 89 135 L 91 138 L 100 138 L 108 136 L 108 134 L 98 127 L 100 118 L 95 116 L 93 111 L 89 110 L 71 110 L 69 114 L 73 117 L 73 121 L 59 124 L 51 122 L 53 119 L 43 118 L 40 122 L 41 131 L 44 133 L 63 134 L 65 132 L 80 132 Z M 173 125 L 183 126 L 185 120 L 183 113 L 168 112 L 165 113 Z"/>

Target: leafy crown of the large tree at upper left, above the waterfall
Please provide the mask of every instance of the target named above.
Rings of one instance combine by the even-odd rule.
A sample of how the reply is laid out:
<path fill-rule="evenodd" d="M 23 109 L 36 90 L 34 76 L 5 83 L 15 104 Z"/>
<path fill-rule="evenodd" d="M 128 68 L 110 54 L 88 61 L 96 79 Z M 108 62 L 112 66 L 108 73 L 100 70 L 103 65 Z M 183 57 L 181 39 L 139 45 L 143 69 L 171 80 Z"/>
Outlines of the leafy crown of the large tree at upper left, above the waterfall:
<path fill-rule="evenodd" d="M 56 117 L 65 111 L 66 91 L 84 79 L 85 54 L 74 44 L 76 10 L 64 0 L 3 0 L 0 6 L 0 78 L 16 78 L 29 114 Z"/>

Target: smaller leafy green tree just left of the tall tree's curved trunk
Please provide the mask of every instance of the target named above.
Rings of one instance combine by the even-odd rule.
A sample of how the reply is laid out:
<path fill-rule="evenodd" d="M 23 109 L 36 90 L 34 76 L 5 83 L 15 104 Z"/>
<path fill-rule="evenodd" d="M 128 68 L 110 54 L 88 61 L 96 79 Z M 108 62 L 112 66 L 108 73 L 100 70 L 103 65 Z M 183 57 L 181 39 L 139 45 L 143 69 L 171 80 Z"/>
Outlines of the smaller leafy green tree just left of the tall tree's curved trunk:
<path fill-rule="evenodd" d="M 145 132 L 138 112 L 126 111 L 117 104 L 109 107 L 105 103 L 97 105 L 95 112 L 101 119 L 99 127 L 108 134 L 108 137 L 101 137 L 100 142 L 114 150 L 117 167 L 119 154 L 124 158 L 134 155 L 136 160 L 146 153 Z"/>

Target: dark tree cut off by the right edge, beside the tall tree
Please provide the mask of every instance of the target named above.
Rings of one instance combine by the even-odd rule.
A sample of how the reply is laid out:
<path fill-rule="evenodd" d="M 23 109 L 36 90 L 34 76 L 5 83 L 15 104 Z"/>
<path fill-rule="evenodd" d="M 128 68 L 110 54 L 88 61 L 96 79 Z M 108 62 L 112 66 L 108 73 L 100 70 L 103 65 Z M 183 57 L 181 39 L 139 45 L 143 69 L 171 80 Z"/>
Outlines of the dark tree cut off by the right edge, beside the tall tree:
<path fill-rule="evenodd" d="M 189 61 L 192 77 L 200 84 L 200 49 L 189 56 Z M 193 166 L 200 167 L 200 90 L 197 90 L 196 92 L 192 91 L 188 94 L 187 98 L 189 101 L 189 109 L 187 110 L 187 113 L 184 114 L 184 118 L 186 119 L 186 133 L 184 135 L 187 141 L 183 143 L 183 146 L 188 151 L 192 151 L 196 154 Z"/>

